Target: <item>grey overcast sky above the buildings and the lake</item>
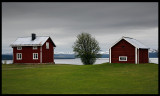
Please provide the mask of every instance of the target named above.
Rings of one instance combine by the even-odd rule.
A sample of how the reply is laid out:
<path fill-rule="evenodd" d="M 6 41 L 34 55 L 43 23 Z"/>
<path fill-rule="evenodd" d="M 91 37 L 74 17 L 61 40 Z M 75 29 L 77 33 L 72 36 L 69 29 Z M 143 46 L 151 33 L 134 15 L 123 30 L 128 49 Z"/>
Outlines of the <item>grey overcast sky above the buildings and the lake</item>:
<path fill-rule="evenodd" d="M 76 36 L 90 33 L 102 51 L 122 36 L 132 37 L 152 49 L 158 48 L 156 2 L 2 2 L 2 53 L 18 37 L 50 36 L 55 52 L 73 52 Z"/>

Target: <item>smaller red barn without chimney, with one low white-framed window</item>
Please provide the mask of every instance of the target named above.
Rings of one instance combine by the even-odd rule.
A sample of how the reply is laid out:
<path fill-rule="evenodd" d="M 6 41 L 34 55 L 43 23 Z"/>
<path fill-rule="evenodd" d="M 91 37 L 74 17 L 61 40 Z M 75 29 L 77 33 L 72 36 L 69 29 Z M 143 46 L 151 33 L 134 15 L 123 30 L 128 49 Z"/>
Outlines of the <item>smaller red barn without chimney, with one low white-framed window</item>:
<path fill-rule="evenodd" d="M 130 38 L 122 37 L 109 49 L 110 63 L 148 63 L 148 47 L 141 42 Z"/>

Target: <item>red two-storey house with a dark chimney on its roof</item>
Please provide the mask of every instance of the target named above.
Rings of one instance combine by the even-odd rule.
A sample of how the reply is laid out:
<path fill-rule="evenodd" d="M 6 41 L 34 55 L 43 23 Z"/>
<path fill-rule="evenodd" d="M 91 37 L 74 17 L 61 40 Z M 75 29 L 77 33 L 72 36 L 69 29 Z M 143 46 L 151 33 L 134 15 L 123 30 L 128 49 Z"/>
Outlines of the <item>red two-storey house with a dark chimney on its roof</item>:
<path fill-rule="evenodd" d="M 54 63 L 54 47 L 56 45 L 49 36 L 17 38 L 11 44 L 13 63 Z"/>

